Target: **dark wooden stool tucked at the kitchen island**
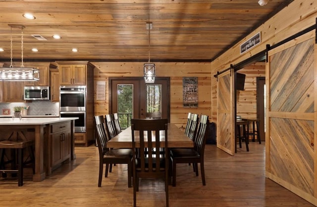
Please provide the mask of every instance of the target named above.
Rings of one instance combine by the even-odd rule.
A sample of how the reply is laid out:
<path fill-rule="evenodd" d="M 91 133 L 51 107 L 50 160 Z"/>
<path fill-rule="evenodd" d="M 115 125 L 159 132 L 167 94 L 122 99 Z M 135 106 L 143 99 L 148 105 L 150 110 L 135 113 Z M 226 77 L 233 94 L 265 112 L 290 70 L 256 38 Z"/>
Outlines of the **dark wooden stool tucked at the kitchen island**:
<path fill-rule="evenodd" d="M 23 167 L 26 164 L 31 163 L 32 164 L 32 168 L 33 168 L 33 173 L 34 173 L 34 151 L 33 151 L 33 147 L 34 146 L 34 142 L 33 140 L 21 140 L 21 141 L 10 141 L 10 140 L 2 140 L 0 141 L 0 168 L 3 167 L 3 169 L 0 169 L 0 172 L 3 173 L 15 173 L 17 172 L 18 174 L 18 186 L 23 186 Z M 23 161 L 23 151 L 25 148 L 28 148 L 30 150 L 30 158 L 31 160 L 24 162 Z M 8 160 L 7 162 L 4 162 L 4 149 L 13 149 L 15 150 L 15 153 L 17 153 L 17 160 L 18 160 L 18 169 L 15 169 L 15 163 L 16 163 L 16 159 L 15 159 L 15 153 L 13 153 L 13 157 L 11 157 L 10 160 Z M 6 170 L 4 168 L 5 164 L 7 163 L 13 163 L 12 164 L 12 168 L 11 170 Z"/>

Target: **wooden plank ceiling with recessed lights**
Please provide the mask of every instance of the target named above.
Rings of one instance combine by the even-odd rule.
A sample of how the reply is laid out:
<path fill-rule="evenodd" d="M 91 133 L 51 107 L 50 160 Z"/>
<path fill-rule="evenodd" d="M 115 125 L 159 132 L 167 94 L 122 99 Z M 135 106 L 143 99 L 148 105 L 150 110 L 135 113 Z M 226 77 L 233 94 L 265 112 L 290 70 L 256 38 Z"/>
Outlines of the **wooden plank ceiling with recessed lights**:
<path fill-rule="evenodd" d="M 26 61 L 148 61 L 149 52 L 151 61 L 211 61 L 291 1 L 0 0 L 0 61 L 10 61 L 11 34 L 13 60 L 21 59 L 21 30 L 9 24 L 25 26 Z"/>

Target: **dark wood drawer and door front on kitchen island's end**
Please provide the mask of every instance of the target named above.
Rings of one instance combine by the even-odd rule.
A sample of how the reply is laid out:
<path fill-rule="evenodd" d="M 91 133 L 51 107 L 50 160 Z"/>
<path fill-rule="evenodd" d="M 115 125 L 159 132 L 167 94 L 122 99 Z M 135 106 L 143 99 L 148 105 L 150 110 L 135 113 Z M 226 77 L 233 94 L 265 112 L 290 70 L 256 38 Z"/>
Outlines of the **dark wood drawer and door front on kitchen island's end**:
<path fill-rule="evenodd" d="M 54 168 L 70 158 L 70 122 L 51 125 L 51 166 Z"/>

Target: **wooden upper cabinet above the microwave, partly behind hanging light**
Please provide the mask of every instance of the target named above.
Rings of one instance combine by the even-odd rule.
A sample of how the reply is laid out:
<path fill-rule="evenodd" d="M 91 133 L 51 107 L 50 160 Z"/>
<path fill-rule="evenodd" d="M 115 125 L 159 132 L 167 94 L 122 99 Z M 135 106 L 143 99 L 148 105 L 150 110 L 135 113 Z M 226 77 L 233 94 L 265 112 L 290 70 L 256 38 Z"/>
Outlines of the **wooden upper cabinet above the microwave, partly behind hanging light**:
<path fill-rule="evenodd" d="M 49 86 L 50 85 L 50 68 L 56 68 L 51 63 L 24 63 L 24 67 L 32 67 L 40 70 L 39 81 L 27 81 L 26 86 Z"/>

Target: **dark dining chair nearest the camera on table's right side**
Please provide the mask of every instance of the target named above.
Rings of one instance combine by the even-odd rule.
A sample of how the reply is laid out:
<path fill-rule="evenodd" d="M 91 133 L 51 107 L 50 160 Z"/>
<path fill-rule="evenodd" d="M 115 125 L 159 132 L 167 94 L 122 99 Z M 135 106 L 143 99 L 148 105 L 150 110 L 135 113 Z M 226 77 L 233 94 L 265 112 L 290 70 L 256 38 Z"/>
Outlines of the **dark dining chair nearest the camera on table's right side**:
<path fill-rule="evenodd" d="M 177 163 L 193 163 L 194 171 L 198 176 L 198 163 L 200 163 L 203 185 L 206 185 L 205 181 L 205 169 L 204 169 L 204 152 L 207 138 L 207 129 L 209 125 L 209 119 L 206 115 L 200 116 L 200 122 L 198 130 L 194 138 L 194 148 L 172 148 L 170 150 L 170 158 L 172 162 L 172 185 L 176 186 L 176 164 Z"/>

